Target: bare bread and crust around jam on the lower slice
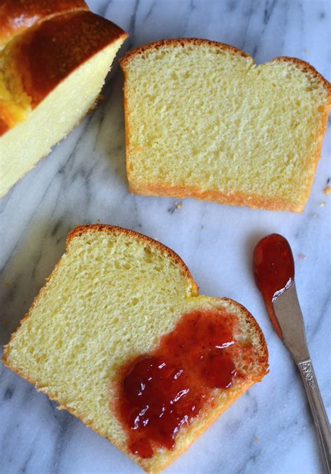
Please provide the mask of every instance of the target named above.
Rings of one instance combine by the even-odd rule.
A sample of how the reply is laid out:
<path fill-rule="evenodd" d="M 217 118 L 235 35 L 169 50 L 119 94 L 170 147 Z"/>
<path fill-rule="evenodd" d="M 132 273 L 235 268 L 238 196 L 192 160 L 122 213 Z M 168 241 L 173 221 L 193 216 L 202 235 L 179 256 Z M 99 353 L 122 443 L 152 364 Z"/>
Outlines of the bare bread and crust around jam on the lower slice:
<path fill-rule="evenodd" d="M 229 389 L 214 390 L 213 405 L 179 429 L 174 449 L 156 445 L 154 456 L 142 459 L 129 449 L 128 430 L 118 416 L 121 368 L 154 351 L 182 315 L 195 309 L 236 320 L 236 341 L 251 344 L 251 362 L 236 359 L 244 377 Z M 247 309 L 228 298 L 198 295 L 173 251 L 131 230 L 86 225 L 68 234 L 66 253 L 5 347 L 3 363 L 156 473 L 264 377 L 267 347 Z"/>

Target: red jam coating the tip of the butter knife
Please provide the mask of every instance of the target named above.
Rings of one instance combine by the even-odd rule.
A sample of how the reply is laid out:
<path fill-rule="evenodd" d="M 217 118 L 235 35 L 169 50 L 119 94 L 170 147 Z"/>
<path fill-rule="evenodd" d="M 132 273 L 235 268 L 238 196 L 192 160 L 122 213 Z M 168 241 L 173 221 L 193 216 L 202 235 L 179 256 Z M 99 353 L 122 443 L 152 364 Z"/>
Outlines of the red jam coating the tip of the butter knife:
<path fill-rule="evenodd" d="M 253 272 L 258 289 L 277 334 L 283 333 L 274 314 L 272 301 L 294 280 L 294 260 L 288 241 L 279 234 L 270 234 L 258 242 L 253 254 Z"/>

